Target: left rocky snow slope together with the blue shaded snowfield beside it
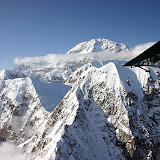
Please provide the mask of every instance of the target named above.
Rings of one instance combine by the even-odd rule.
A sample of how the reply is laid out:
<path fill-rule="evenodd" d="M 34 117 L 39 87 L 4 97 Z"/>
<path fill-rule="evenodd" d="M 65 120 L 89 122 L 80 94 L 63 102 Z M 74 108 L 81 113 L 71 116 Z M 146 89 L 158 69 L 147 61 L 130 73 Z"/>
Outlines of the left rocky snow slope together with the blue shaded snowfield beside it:
<path fill-rule="evenodd" d="M 70 87 L 13 77 L 0 81 L 0 141 L 20 144 L 39 130 Z"/>

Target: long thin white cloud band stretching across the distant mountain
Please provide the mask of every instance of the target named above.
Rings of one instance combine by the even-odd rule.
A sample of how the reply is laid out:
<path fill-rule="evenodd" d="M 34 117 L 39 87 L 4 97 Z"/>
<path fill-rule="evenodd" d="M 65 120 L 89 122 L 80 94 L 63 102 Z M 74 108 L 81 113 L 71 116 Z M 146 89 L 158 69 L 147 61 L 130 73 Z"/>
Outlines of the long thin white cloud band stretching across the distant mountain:
<path fill-rule="evenodd" d="M 96 52 L 96 53 L 88 53 L 88 54 L 48 54 L 46 56 L 40 57 L 24 57 L 14 59 L 14 63 L 16 65 L 24 64 L 39 64 L 39 65 L 48 65 L 48 64 L 55 64 L 59 62 L 63 62 L 66 60 L 69 61 L 79 61 L 82 59 L 93 59 L 93 60 L 119 60 L 119 61 L 129 61 L 132 58 L 136 57 L 147 48 L 151 47 L 155 42 L 149 42 L 141 45 L 137 45 L 134 48 L 131 48 L 129 51 L 122 51 L 119 53 L 111 53 L 111 52 Z"/>

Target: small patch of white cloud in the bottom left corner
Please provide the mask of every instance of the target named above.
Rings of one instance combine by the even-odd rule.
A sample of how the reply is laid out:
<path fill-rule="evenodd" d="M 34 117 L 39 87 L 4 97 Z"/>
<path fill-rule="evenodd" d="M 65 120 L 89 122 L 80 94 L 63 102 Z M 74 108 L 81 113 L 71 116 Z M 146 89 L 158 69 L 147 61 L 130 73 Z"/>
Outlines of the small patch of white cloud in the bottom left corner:
<path fill-rule="evenodd" d="M 1 160 L 26 160 L 25 155 L 20 149 L 17 149 L 13 144 L 3 142 L 0 145 Z"/>

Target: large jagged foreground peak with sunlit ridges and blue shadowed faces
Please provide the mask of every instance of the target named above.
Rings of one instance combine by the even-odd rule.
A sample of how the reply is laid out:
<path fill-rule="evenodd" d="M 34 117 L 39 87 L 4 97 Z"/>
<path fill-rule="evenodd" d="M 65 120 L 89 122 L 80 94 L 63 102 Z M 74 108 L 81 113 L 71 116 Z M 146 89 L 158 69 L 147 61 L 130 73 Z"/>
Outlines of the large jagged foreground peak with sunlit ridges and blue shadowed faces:
<path fill-rule="evenodd" d="M 71 75 L 70 91 L 21 145 L 32 159 L 159 158 L 159 69 L 95 66 Z"/>

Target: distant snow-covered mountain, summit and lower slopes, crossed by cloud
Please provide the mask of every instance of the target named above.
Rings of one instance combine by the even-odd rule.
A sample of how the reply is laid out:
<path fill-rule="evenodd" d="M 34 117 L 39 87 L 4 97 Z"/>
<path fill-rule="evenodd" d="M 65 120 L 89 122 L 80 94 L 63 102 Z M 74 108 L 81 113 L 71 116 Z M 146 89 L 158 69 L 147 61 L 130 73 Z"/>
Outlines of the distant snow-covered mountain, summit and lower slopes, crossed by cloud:
<path fill-rule="evenodd" d="M 103 54 L 109 55 L 128 50 L 124 44 L 107 39 L 92 39 L 77 44 L 64 54 L 63 57 L 57 59 L 57 61 L 54 61 L 56 57 L 53 57 L 50 58 L 53 61 L 40 60 L 36 62 L 37 59 L 35 58 L 31 63 L 28 61 L 26 63 L 20 63 L 15 70 L 24 73 L 26 76 L 35 77 L 46 82 L 65 82 L 76 69 L 88 62 L 98 60 L 97 52 L 103 51 Z M 74 54 L 74 56 L 71 57 L 70 54 Z"/>

